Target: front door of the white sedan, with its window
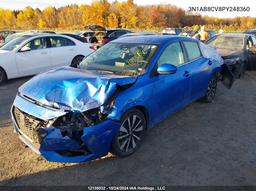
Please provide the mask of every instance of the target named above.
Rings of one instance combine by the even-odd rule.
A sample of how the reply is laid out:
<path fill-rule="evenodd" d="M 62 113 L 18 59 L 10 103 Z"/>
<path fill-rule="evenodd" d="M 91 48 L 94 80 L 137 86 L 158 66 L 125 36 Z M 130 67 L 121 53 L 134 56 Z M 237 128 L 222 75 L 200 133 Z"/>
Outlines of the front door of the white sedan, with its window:
<path fill-rule="evenodd" d="M 52 68 L 51 53 L 46 37 L 38 37 L 30 40 L 24 46 L 31 50 L 15 53 L 16 64 L 20 75 L 42 72 Z"/>

